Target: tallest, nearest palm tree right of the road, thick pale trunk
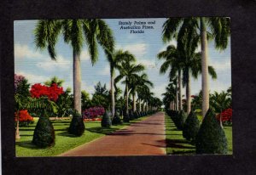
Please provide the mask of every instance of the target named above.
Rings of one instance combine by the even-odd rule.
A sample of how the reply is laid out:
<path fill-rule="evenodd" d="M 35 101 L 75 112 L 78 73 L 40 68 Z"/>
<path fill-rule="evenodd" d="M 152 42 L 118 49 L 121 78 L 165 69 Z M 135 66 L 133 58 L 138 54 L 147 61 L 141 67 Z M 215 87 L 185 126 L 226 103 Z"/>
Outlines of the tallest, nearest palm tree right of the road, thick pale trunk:
<path fill-rule="evenodd" d="M 188 23 L 193 24 L 191 25 Z M 181 27 L 180 27 L 181 26 Z M 209 108 L 209 82 L 208 82 L 208 50 L 207 39 L 214 38 L 215 47 L 227 48 L 230 36 L 230 18 L 226 17 L 198 17 L 198 18 L 170 18 L 163 25 L 164 42 L 177 36 L 177 31 L 189 26 L 189 30 L 199 31 L 201 37 L 201 71 L 202 71 L 202 115 L 206 115 Z M 208 26 L 208 27 L 207 27 Z M 208 31 L 207 31 L 208 30 Z M 211 31 L 211 32 L 209 32 Z"/>

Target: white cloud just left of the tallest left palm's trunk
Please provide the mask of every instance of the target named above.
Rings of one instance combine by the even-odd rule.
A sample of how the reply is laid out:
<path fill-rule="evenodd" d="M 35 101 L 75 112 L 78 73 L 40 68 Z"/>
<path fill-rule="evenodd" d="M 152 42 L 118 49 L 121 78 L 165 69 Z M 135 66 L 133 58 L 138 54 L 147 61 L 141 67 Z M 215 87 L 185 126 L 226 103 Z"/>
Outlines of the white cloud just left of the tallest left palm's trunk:
<path fill-rule="evenodd" d="M 56 60 L 49 59 L 47 61 L 40 61 L 36 64 L 36 66 L 44 71 L 67 71 L 72 65 L 69 59 L 64 59 L 62 56 L 58 56 Z"/>

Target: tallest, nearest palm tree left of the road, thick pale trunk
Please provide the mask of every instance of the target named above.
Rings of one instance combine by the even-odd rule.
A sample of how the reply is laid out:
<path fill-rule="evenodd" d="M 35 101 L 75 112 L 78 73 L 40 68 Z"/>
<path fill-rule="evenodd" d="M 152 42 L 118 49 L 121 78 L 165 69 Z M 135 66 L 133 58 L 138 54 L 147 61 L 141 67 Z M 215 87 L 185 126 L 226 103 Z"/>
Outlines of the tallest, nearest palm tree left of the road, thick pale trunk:
<path fill-rule="evenodd" d="M 95 20 L 39 20 L 35 29 L 37 48 L 48 49 L 51 59 L 56 60 L 55 44 L 62 32 L 64 42 L 73 48 L 73 97 L 74 109 L 81 113 L 80 54 L 84 42 L 88 45 L 92 65 L 97 60 L 97 42 L 104 50 L 113 51 L 113 36 L 108 25 Z"/>

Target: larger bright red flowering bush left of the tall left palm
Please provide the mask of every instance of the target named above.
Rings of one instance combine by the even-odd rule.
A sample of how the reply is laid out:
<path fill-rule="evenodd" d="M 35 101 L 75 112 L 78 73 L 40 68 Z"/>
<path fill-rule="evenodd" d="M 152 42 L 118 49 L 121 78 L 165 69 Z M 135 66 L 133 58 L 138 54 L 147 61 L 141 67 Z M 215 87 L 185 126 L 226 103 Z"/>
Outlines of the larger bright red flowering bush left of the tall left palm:
<path fill-rule="evenodd" d="M 53 83 L 50 87 L 37 83 L 32 85 L 30 93 L 33 98 L 47 96 L 49 100 L 57 101 L 59 95 L 64 93 L 64 91 L 62 87 L 58 87 L 55 83 Z"/>

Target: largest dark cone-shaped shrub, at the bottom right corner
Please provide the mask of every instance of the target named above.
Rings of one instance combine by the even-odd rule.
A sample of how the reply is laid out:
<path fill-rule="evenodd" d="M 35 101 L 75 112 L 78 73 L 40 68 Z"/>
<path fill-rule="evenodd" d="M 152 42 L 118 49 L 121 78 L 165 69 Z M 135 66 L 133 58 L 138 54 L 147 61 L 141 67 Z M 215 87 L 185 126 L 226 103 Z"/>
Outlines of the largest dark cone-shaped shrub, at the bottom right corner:
<path fill-rule="evenodd" d="M 228 144 L 224 130 L 212 110 L 208 110 L 195 137 L 196 154 L 227 154 Z"/>

